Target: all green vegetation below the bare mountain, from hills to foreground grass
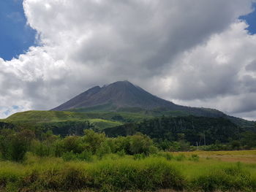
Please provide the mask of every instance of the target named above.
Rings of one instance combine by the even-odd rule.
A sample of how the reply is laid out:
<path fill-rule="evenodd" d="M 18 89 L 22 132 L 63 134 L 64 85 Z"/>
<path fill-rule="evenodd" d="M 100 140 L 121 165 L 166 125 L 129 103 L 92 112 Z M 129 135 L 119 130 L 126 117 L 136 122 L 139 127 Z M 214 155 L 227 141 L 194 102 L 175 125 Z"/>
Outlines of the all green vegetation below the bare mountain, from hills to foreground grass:
<path fill-rule="evenodd" d="M 256 191 L 256 150 L 245 150 L 255 128 L 151 115 L 10 116 L 0 122 L 0 191 Z"/>

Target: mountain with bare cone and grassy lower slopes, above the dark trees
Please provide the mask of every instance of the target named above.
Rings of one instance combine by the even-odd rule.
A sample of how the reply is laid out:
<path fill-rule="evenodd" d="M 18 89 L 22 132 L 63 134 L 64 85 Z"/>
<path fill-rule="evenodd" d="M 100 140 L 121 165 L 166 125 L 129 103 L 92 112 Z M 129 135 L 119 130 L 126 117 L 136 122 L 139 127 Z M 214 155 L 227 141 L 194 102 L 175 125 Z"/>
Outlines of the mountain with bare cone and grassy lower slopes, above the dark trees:
<path fill-rule="evenodd" d="M 218 110 L 177 105 L 160 99 L 128 81 L 113 82 L 102 88 L 99 86 L 90 88 L 50 111 L 15 113 L 1 120 L 0 128 L 12 126 L 12 124 L 18 126 L 29 124 L 29 126 L 51 129 L 56 134 L 65 135 L 83 133 L 83 128 L 116 130 L 118 127 L 122 129 L 122 125 L 125 127 L 127 123 L 140 123 L 146 119 L 163 116 L 185 118 L 191 115 L 225 118 L 238 127 L 255 130 L 255 124 L 251 121 L 231 117 Z M 208 119 L 200 118 L 200 120 Z M 219 125 L 223 124 L 222 120 L 217 121 Z M 77 131 L 78 129 L 80 131 Z"/>

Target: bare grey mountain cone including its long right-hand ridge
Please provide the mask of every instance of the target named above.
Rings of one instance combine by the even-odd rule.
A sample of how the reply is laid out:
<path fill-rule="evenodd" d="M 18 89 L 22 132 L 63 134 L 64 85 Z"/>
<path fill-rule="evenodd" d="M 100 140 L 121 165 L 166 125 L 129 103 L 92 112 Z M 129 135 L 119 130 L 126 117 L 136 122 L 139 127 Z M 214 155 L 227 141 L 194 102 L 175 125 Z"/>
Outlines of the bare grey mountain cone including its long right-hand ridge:
<path fill-rule="evenodd" d="M 171 101 L 148 93 L 129 81 L 113 82 L 102 88 L 95 86 L 54 108 L 53 111 L 125 111 L 128 109 L 175 111 L 211 117 L 225 116 L 224 113 L 217 110 L 173 104 Z"/>

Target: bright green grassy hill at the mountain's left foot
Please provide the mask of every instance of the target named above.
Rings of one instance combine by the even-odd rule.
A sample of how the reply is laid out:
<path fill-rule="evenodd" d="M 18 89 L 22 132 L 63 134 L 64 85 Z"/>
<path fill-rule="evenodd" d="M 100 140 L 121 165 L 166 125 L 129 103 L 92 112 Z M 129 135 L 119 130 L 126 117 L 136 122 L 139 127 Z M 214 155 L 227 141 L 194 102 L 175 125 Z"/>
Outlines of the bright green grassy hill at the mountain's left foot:
<path fill-rule="evenodd" d="M 18 112 L 1 120 L 18 126 L 34 126 L 52 130 L 56 134 L 81 134 L 84 128 L 99 130 L 121 126 L 124 123 L 140 122 L 151 115 L 132 112 L 66 112 L 66 111 L 26 111 Z M 0 127 L 7 127 L 5 124 Z M 12 126 L 10 126 L 12 127 Z M 79 131 L 78 131 L 79 130 Z"/>

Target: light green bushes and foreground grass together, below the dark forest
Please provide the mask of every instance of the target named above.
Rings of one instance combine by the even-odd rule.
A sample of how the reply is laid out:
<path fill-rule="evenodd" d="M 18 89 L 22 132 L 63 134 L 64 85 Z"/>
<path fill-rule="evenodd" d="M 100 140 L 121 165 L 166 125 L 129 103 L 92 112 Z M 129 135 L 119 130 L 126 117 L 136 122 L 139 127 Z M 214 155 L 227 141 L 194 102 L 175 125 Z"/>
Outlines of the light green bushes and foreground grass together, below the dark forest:
<path fill-rule="evenodd" d="M 145 134 L 110 138 L 87 128 L 83 136 L 60 137 L 2 128 L 0 135 L 2 191 L 256 190 L 255 163 L 225 163 L 210 152 L 159 151 Z M 256 157 L 255 150 L 237 153 Z"/>

